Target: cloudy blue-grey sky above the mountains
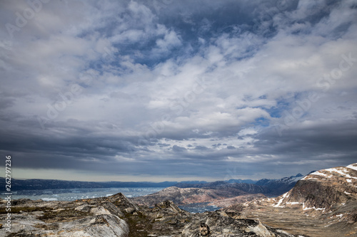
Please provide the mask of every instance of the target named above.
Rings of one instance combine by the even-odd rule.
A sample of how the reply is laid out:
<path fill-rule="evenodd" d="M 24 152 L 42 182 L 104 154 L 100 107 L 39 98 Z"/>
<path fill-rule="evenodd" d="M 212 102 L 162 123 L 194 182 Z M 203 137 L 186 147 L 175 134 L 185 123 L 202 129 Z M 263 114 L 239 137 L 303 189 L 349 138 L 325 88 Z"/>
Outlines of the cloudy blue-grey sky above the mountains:
<path fill-rule="evenodd" d="M 0 1 L 0 164 L 81 181 L 357 162 L 357 1 Z"/>

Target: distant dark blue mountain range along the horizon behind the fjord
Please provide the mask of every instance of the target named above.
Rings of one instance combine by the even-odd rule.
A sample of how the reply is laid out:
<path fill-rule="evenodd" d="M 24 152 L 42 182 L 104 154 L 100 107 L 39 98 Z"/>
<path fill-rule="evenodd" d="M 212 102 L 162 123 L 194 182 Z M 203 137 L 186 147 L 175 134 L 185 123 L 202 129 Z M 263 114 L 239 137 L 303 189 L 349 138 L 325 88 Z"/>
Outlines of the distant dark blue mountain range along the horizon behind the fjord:
<path fill-rule="evenodd" d="M 66 181 L 57 179 L 11 179 L 11 190 L 44 190 L 44 189 L 101 189 L 121 187 L 162 187 L 176 186 L 179 188 L 203 188 L 203 189 L 241 189 L 248 194 L 264 194 L 266 196 L 278 196 L 290 190 L 298 179 L 303 176 L 284 177 L 282 179 L 230 179 L 228 181 L 163 181 L 163 182 L 123 182 L 123 181 Z M 5 179 L 0 178 L 4 183 Z M 4 186 L 5 188 L 5 186 Z M 3 188 L 3 189 L 4 189 Z M 5 191 L 5 190 L 3 190 Z"/>

